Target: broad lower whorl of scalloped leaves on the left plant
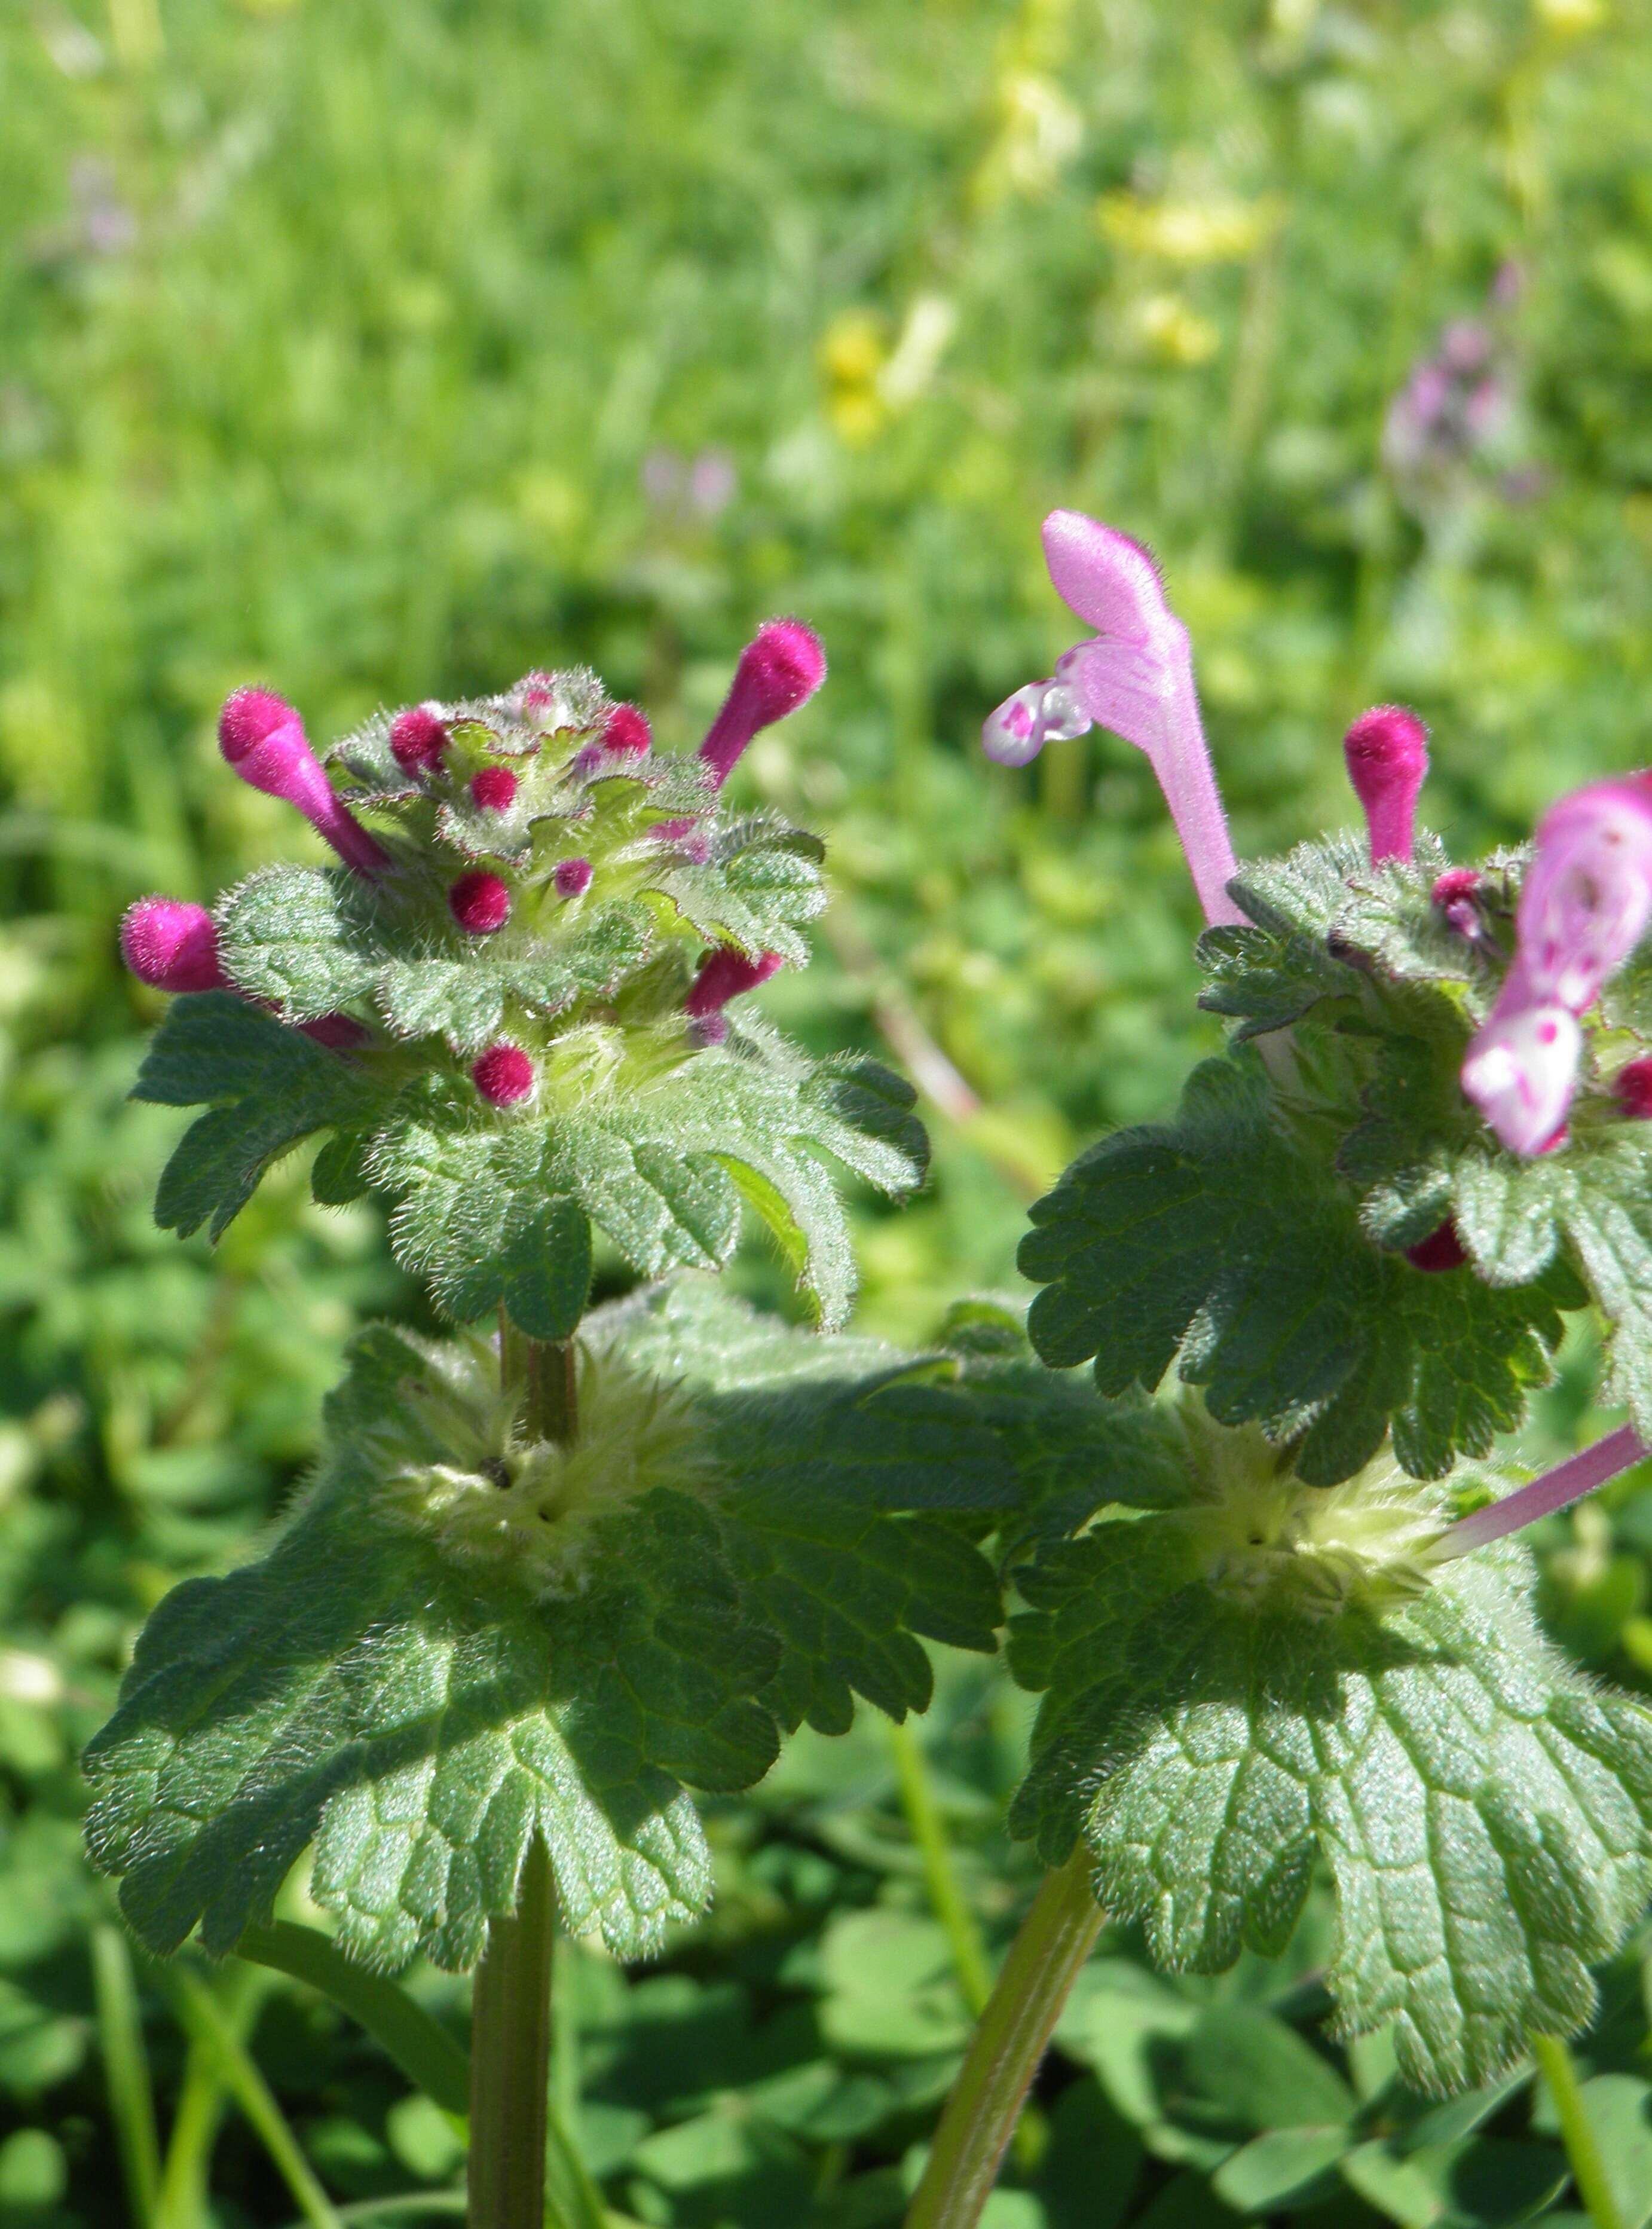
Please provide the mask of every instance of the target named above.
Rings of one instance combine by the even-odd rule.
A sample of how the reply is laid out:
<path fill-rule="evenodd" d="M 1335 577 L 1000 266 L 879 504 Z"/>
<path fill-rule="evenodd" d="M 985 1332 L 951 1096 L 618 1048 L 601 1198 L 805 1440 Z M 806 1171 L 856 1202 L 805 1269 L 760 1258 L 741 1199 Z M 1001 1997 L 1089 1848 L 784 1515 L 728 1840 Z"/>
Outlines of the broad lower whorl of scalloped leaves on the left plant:
<path fill-rule="evenodd" d="M 968 1400 L 693 1286 L 586 1333 L 597 1366 L 669 1378 L 711 1460 L 604 1518 L 580 1592 L 535 1600 L 386 1518 L 388 1473 L 444 1449 L 410 1398 L 433 1355 L 377 1328 L 276 1542 L 156 1609 L 87 1756 L 89 1848 L 149 1948 L 232 1948 L 314 1843 L 352 1953 L 470 1966 L 540 1834 L 566 1926 L 653 1950 L 709 1897 L 684 1783 L 751 1785 L 856 1694 L 923 1710 L 921 1634 L 992 1647 L 997 1583 L 943 1511 L 1014 1485 Z"/>

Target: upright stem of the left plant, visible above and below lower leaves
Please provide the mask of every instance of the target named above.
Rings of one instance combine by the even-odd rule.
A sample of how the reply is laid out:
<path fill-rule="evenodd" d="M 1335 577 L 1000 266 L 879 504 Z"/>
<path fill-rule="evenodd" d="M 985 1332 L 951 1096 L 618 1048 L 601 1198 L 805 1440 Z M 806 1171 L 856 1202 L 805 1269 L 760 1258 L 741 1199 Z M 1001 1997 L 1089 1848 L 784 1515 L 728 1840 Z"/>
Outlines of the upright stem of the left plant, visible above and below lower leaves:
<path fill-rule="evenodd" d="M 573 1440 L 573 1344 L 526 1340 L 506 1322 L 499 1366 L 506 1386 L 522 1386 L 533 1438 Z M 470 2006 L 470 2229 L 544 2229 L 553 1944 L 551 1859 L 535 1837 L 515 1912 L 488 1924 Z"/>

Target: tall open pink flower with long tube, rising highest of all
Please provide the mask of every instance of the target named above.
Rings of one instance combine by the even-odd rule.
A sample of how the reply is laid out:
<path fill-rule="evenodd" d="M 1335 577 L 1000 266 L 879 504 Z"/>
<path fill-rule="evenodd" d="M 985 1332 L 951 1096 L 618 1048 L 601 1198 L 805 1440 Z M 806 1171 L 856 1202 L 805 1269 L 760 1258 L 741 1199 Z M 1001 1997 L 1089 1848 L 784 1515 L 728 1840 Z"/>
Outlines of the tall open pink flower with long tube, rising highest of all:
<path fill-rule="evenodd" d="M 1235 860 L 1193 687 L 1188 631 L 1164 602 L 1153 557 L 1081 510 L 1043 522 L 1043 559 L 1063 604 L 1095 629 L 1057 660 L 1055 680 L 999 704 L 981 731 L 988 758 L 1023 767 L 1046 742 L 1092 722 L 1146 753 L 1170 807 L 1193 887 L 1211 925 L 1244 921 L 1228 883 Z"/>

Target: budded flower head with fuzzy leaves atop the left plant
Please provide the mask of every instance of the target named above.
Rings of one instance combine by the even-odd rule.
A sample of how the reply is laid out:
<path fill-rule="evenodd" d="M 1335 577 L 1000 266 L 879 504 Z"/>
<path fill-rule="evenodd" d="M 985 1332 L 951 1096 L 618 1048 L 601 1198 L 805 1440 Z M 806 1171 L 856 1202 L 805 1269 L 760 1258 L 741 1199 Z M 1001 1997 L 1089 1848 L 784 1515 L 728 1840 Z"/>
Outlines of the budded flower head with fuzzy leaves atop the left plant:
<path fill-rule="evenodd" d="M 756 1213 L 823 1320 L 854 1288 L 838 1186 L 923 1166 L 912 1092 L 872 1061 L 814 1061 L 736 1012 L 807 961 L 825 847 L 725 802 L 751 738 L 825 675 L 774 620 L 693 756 L 593 673 L 379 713 L 325 756 L 263 689 L 230 698 L 223 753 L 337 854 L 263 867 L 207 914 L 143 898 L 132 970 L 183 992 L 138 1094 L 207 1106 L 156 1201 L 216 1237 L 263 1170 L 330 1132 L 317 1199 L 392 1204 L 401 1264 L 459 1322 L 504 1306 L 566 1337 L 595 1230 L 644 1277 L 716 1268 Z"/>

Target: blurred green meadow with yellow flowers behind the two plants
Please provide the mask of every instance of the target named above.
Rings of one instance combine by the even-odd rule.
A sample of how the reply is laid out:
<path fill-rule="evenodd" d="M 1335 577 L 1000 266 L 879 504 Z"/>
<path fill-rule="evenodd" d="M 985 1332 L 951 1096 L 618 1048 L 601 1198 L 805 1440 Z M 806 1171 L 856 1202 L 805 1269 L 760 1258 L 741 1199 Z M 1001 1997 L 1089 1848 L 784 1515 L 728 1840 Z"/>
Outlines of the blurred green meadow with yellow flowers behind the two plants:
<path fill-rule="evenodd" d="M 149 1226 L 181 1123 L 125 1103 L 156 1008 L 118 914 L 308 845 L 223 771 L 223 693 L 325 740 L 591 662 L 691 744 L 754 622 L 818 626 L 829 687 L 738 776 L 832 845 L 820 956 L 765 999 L 941 1090 L 932 1188 L 861 1215 L 863 1322 L 921 1340 L 1215 1043 L 1141 758 L 976 747 L 1077 633 L 1046 508 L 1162 555 L 1242 854 L 1349 818 L 1376 698 L 1429 718 L 1465 851 L 1650 756 L 1650 114 L 1636 0 L 9 0 L 0 2229 L 457 2209 L 446 2126 L 319 1997 L 201 1968 L 328 2200 L 283 2171 L 78 1859 L 136 1620 L 281 1505 L 352 1324 L 417 1306 L 301 1170 L 216 1257 Z M 1598 1427 L 1590 1386 L 1581 1344 L 1525 1453 Z M 1652 1496 L 1545 1547 L 1556 1629 L 1652 1690 Z M 662 1968 L 562 1955 L 557 2095 L 624 2216 L 898 2220 L 972 1986 L 914 1821 L 997 1944 L 1023 1730 L 943 1663 L 914 1745 L 805 1739 L 716 1810 L 718 1912 Z M 1427 2118 L 1382 2040 L 1324 2042 L 1324 1924 L 1219 1984 L 1108 1937 L 992 2229 L 1583 2220 L 1529 2077 Z M 1643 1950 L 1583 2048 L 1619 2229 Z M 145 2080 L 156 2204 L 118 2169 Z"/>

